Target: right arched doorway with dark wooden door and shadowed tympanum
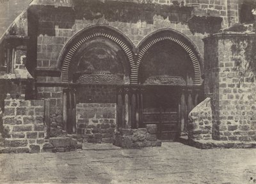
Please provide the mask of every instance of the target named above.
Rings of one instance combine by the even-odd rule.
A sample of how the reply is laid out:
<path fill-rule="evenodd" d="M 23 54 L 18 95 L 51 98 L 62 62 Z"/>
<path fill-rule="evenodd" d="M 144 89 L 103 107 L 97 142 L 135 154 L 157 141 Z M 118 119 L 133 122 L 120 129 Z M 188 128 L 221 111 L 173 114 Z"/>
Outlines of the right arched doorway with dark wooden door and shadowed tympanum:
<path fill-rule="evenodd" d="M 158 139 L 186 132 L 188 113 L 198 104 L 200 56 L 188 38 L 172 30 L 153 33 L 141 43 L 138 82 L 143 86 L 141 126 L 156 124 Z"/>

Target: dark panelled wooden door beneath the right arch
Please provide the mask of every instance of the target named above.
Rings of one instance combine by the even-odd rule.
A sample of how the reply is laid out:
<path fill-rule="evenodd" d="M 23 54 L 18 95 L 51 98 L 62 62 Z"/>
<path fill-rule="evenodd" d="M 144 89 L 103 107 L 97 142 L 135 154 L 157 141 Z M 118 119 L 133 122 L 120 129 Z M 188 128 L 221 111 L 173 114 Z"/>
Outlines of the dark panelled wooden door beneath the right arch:
<path fill-rule="evenodd" d="M 180 135 L 179 90 L 149 88 L 143 95 L 143 124 L 157 125 L 157 139 L 174 140 Z"/>

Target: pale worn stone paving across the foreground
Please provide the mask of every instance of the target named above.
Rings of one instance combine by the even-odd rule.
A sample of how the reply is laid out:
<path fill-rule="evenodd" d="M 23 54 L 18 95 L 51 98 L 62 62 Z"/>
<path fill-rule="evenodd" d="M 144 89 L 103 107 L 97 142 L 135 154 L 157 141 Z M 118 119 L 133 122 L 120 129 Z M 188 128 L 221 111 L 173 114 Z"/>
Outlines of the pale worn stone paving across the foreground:
<path fill-rule="evenodd" d="M 179 142 L 67 153 L 0 155 L 0 183 L 253 183 L 256 149 L 199 150 Z M 256 182 L 255 182 L 256 183 Z"/>

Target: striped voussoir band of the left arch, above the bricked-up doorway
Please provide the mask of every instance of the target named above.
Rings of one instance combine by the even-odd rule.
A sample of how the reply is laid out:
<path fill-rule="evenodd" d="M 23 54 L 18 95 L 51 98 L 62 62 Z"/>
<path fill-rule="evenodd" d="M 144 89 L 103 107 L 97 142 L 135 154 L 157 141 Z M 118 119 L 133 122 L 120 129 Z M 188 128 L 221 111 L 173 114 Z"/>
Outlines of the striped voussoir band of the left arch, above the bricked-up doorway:
<path fill-rule="evenodd" d="M 122 50 L 124 50 L 131 70 L 136 66 L 134 62 L 134 54 L 132 52 L 134 46 L 129 38 L 120 33 L 120 31 L 109 26 L 92 26 L 88 27 L 87 29 L 83 29 L 73 36 L 63 49 L 59 59 L 59 61 L 62 61 L 61 82 L 69 81 L 70 63 L 72 62 L 72 58 L 76 55 L 77 50 L 79 50 L 79 48 L 81 48 L 85 42 L 95 37 L 104 37 L 116 43 L 118 46 L 120 46 L 120 48 L 122 48 Z M 131 81 L 132 79 L 130 79 L 130 82 Z"/>

